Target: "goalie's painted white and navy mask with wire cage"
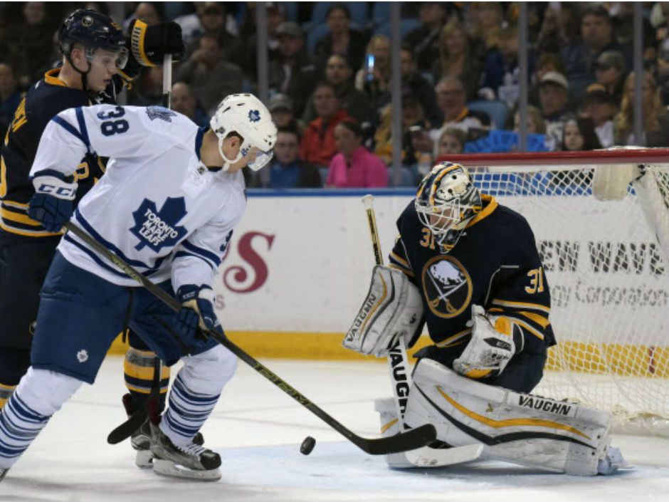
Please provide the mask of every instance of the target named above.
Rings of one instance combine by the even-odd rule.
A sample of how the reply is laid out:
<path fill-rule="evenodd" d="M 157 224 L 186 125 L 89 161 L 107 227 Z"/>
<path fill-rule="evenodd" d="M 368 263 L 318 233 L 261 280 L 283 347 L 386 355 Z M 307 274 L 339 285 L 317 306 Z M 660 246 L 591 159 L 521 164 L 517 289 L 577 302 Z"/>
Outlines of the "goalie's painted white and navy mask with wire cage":
<path fill-rule="evenodd" d="M 455 246 L 465 226 L 481 210 L 481 194 L 465 167 L 440 162 L 418 186 L 416 213 L 443 246 Z"/>

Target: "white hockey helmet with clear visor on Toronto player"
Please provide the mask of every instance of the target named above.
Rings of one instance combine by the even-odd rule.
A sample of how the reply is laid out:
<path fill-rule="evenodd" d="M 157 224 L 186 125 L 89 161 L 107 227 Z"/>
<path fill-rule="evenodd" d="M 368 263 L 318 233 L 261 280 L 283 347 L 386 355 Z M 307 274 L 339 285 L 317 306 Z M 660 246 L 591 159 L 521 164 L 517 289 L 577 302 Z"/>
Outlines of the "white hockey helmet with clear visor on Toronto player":
<path fill-rule="evenodd" d="M 248 167 L 254 171 L 258 171 L 272 159 L 276 126 L 267 107 L 253 94 L 226 96 L 216 108 L 209 125 L 218 137 L 218 153 L 225 161 L 223 170 L 227 171 L 231 164 L 246 156 L 253 147 L 258 149 L 258 155 Z M 243 138 L 239 153 L 234 159 L 228 159 L 223 153 L 223 140 L 231 132 L 236 132 Z"/>

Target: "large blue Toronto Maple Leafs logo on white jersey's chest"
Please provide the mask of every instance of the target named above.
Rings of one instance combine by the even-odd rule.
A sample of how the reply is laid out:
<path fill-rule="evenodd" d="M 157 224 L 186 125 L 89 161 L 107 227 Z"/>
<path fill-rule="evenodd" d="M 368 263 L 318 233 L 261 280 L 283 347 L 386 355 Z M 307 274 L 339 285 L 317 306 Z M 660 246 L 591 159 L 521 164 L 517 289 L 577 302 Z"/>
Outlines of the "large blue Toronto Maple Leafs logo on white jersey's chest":
<path fill-rule="evenodd" d="M 186 227 L 177 225 L 186 216 L 184 197 L 167 197 L 159 211 L 155 202 L 144 199 L 132 216 L 135 226 L 130 231 L 139 239 L 139 244 L 135 246 L 137 251 L 144 246 L 153 251 L 174 247 L 186 235 Z"/>

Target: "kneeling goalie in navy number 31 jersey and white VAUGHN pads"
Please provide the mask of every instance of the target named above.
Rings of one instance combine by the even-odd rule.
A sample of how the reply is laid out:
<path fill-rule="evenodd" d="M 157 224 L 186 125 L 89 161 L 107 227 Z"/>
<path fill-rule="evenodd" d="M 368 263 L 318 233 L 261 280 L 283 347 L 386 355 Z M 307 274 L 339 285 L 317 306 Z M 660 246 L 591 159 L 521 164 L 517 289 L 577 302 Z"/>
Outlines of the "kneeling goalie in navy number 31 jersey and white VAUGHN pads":
<path fill-rule="evenodd" d="M 416 353 L 404 426 L 433 424 L 439 449 L 423 449 L 421 462 L 411 452 L 387 456 L 389 465 L 444 465 L 439 459 L 466 449 L 475 455 L 464 460 L 582 476 L 624 466 L 609 445 L 611 413 L 531 394 L 556 342 L 549 286 L 525 218 L 480 193 L 467 169 L 441 162 L 397 228 L 390 266 L 374 268 L 343 342 L 386 357 L 398 338 L 411 347 L 417 320 L 426 321 L 432 345 Z M 402 427 L 392 401 L 376 402 L 385 435 Z"/>

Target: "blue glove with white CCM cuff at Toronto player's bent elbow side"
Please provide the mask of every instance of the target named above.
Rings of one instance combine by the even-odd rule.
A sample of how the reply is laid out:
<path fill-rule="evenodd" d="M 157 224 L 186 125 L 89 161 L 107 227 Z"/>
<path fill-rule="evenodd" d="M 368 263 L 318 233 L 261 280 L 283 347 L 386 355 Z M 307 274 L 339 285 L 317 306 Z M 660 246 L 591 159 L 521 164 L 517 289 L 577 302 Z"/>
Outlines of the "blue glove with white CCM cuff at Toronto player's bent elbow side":
<path fill-rule="evenodd" d="M 28 216 L 56 234 L 72 216 L 77 184 L 71 176 L 48 175 L 33 179 L 33 185 L 35 194 L 28 204 Z"/>

